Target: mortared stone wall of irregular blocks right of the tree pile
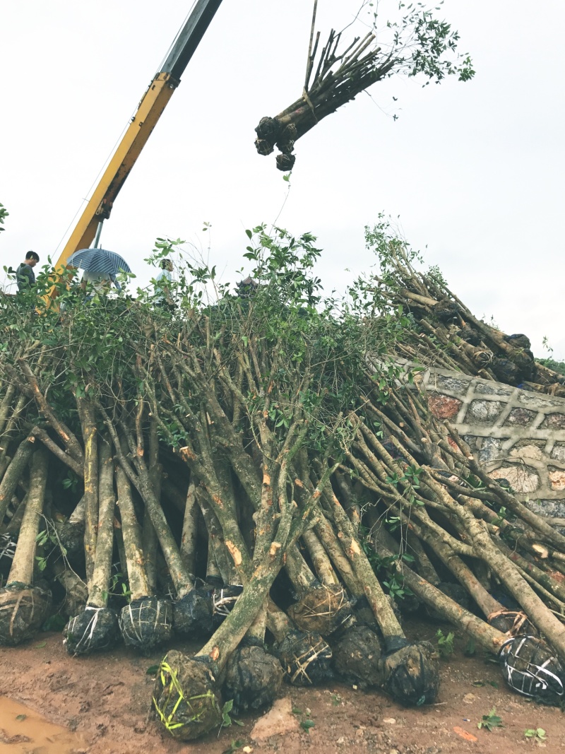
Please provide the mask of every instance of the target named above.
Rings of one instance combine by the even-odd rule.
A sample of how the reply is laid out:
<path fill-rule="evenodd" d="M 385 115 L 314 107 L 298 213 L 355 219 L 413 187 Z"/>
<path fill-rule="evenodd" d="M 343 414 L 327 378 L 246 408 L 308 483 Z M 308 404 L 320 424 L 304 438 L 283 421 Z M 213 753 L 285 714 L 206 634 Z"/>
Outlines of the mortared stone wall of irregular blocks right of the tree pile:
<path fill-rule="evenodd" d="M 508 480 L 532 510 L 565 516 L 565 398 L 446 369 L 420 372 L 416 382 L 491 477 Z"/>

